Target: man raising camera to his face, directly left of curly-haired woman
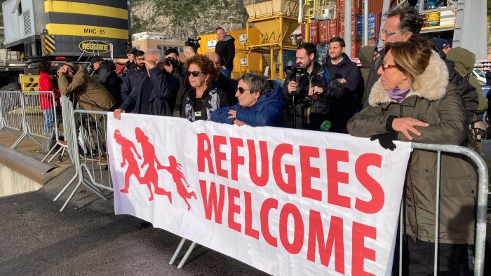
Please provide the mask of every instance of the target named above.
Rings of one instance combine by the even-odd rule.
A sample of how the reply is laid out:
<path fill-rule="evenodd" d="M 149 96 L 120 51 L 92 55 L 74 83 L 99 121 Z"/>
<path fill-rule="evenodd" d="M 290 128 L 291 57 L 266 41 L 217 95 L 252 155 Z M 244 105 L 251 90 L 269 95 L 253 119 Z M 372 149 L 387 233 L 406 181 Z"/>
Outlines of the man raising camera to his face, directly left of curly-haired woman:
<path fill-rule="evenodd" d="M 189 85 L 189 80 L 187 76 L 184 74 L 184 64 L 182 64 L 179 52 L 176 48 L 169 48 L 163 55 L 166 56 L 164 63 L 166 64 L 164 68 L 170 74 L 173 74 L 180 83 L 179 91 L 177 92 L 177 97 L 175 98 L 175 106 L 174 106 L 174 116 L 181 116 L 181 102 L 182 96 L 184 95 L 184 91 L 186 90 L 187 85 Z"/>

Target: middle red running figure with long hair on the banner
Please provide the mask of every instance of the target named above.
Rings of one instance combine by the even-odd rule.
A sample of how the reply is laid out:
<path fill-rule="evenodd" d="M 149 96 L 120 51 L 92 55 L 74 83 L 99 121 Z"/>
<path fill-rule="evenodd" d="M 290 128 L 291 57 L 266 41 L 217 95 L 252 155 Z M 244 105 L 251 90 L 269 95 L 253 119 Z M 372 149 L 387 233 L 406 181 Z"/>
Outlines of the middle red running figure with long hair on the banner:
<path fill-rule="evenodd" d="M 140 129 L 140 127 L 135 128 L 135 135 L 136 135 L 137 142 L 139 142 L 142 146 L 143 163 L 141 167 L 143 168 L 144 165 L 148 164 L 147 172 L 145 172 L 145 175 L 140 179 L 140 184 L 147 184 L 148 186 L 148 190 L 150 192 L 150 198 L 148 200 L 149 201 L 154 200 L 154 195 L 152 193 L 152 186 L 151 186 L 153 185 L 155 193 L 157 195 L 167 195 L 169 198 L 169 202 L 172 203 L 171 193 L 158 186 L 159 174 L 157 174 L 155 164 L 157 165 L 157 167 L 162 167 L 162 165 L 157 159 L 157 157 L 155 156 L 154 145 L 152 145 L 152 143 L 149 142 L 147 135 L 145 135 L 145 133 Z"/>

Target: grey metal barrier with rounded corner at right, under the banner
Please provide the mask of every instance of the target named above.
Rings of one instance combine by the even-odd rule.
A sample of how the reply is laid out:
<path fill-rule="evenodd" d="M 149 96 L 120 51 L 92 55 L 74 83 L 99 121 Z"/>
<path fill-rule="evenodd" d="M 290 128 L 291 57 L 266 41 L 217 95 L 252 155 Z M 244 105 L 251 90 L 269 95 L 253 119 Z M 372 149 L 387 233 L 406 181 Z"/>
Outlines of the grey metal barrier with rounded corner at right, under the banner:
<path fill-rule="evenodd" d="M 473 163 L 476 165 L 477 174 L 478 174 L 478 195 L 477 195 L 477 205 L 476 205 L 476 240 L 474 242 L 476 251 L 474 252 L 474 275 L 482 276 L 484 274 L 484 255 L 485 255 L 485 244 L 486 244 L 486 212 L 487 212 L 487 197 L 490 195 L 489 187 L 488 187 L 488 175 L 487 175 L 487 165 L 483 158 L 469 148 L 465 148 L 463 146 L 452 146 L 452 145 L 437 145 L 437 144 L 420 144 L 420 143 L 411 143 L 412 149 L 424 149 L 426 151 L 436 151 L 437 152 L 437 172 L 439 172 L 436 176 L 436 218 L 435 221 L 439 221 L 439 205 L 440 205 L 440 174 L 441 174 L 441 153 L 459 153 L 464 156 L 469 157 Z M 401 206 L 403 204 L 401 203 Z M 403 224 L 404 224 L 404 216 L 403 216 L 403 208 L 401 207 L 401 214 L 399 217 L 399 275 L 403 275 Z M 438 232 L 438 224 L 435 225 L 435 233 Z M 184 242 L 187 240 L 183 237 L 177 249 L 170 259 L 169 264 L 172 265 L 177 256 L 180 254 L 182 247 L 184 246 Z M 191 252 L 196 247 L 196 242 L 191 242 L 191 245 L 187 249 L 186 253 L 182 257 L 180 263 L 177 265 L 177 268 L 182 268 L 187 261 L 187 258 L 191 255 Z M 438 275 L 438 235 L 436 235 L 435 239 L 435 262 L 433 263 L 433 275 Z"/>

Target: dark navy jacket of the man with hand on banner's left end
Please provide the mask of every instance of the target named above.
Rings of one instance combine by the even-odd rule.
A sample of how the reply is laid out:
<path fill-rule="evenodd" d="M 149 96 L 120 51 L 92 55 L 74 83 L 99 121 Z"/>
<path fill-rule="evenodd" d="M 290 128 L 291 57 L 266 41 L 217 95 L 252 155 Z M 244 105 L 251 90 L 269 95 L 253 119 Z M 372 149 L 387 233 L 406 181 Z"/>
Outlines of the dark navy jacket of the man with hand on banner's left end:
<path fill-rule="evenodd" d="M 120 108 L 125 111 L 133 110 L 133 113 L 140 113 L 144 85 L 147 81 L 152 81 L 154 90 L 152 90 L 149 98 L 149 113 L 159 116 L 173 116 L 179 81 L 166 70 L 160 71 L 158 67 L 150 69 L 149 72 L 150 77 L 146 72 L 137 75 L 133 92 L 126 97 Z"/>

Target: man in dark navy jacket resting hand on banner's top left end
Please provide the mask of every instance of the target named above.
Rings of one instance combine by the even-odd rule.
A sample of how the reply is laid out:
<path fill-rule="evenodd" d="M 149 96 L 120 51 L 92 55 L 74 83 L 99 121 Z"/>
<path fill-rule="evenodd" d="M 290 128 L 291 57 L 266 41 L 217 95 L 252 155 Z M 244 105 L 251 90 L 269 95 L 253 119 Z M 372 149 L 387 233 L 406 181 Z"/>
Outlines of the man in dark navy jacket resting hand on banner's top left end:
<path fill-rule="evenodd" d="M 114 111 L 116 119 L 131 109 L 138 114 L 173 116 L 179 80 L 164 69 L 161 50 L 149 49 L 144 58 L 147 74 L 138 75 L 133 92 Z"/>

